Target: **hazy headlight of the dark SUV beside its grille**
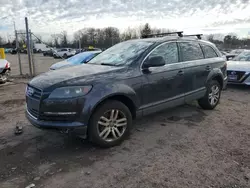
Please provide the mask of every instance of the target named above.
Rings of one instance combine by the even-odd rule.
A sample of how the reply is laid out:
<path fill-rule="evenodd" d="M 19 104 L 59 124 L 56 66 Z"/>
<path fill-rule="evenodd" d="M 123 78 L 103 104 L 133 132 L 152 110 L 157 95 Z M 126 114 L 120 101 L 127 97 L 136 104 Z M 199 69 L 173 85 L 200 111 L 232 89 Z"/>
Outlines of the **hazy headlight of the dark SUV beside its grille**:
<path fill-rule="evenodd" d="M 71 87 L 60 87 L 55 89 L 50 95 L 50 99 L 65 99 L 80 97 L 88 94 L 92 86 L 71 86 Z"/>

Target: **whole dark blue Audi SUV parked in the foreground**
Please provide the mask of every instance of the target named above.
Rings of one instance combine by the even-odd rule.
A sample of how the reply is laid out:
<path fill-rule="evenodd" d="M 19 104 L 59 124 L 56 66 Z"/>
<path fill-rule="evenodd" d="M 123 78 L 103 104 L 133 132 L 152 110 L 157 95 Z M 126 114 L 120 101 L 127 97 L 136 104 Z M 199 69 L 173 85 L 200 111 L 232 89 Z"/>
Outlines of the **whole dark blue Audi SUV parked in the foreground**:
<path fill-rule="evenodd" d="M 130 40 L 87 64 L 32 79 L 26 116 L 38 128 L 75 131 L 110 147 L 129 135 L 134 118 L 192 100 L 215 108 L 227 83 L 226 66 L 215 45 L 203 40 Z"/>

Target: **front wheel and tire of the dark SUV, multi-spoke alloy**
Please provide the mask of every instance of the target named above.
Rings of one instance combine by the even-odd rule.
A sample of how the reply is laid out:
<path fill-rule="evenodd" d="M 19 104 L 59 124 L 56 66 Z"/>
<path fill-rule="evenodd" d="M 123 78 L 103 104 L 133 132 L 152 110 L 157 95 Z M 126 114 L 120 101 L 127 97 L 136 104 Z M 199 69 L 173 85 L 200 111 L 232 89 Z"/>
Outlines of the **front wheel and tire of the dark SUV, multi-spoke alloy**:
<path fill-rule="evenodd" d="M 111 118 L 112 116 L 113 118 Z M 129 136 L 131 126 L 132 115 L 128 107 L 122 102 L 108 100 L 97 107 L 92 114 L 88 128 L 88 138 L 92 143 L 100 147 L 116 146 Z"/>

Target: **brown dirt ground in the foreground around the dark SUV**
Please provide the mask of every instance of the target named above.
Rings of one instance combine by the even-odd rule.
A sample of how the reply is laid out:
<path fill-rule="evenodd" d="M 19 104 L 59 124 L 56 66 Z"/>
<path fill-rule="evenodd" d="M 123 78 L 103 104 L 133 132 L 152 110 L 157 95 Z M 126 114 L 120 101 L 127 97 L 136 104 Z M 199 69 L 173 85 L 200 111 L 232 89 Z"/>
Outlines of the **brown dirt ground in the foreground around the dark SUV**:
<path fill-rule="evenodd" d="M 0 86 L 1 188 L 250 187 L 249 87 L 229 87 L 213 111 L 194 102 L 136 120 L 128 140 L 100 149 L 30 125 L 26 82 Z"/>

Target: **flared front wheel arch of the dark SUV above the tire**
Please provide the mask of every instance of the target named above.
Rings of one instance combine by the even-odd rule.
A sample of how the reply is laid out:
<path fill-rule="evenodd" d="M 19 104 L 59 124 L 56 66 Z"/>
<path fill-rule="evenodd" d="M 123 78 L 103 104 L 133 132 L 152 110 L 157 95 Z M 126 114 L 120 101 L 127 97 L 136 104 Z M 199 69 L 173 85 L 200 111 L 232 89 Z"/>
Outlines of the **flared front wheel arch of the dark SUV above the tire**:
<path fill-rule="evenodd" d="M 81 120 L 87 125 L 91 114 L 101 102 L 108 98 L 121 95 L 129 98 L 134 103 L 135 107 L 138 107 L 139 100 L 136 92 L 128 85 L 110 83 L 94 86 L 91 92 L 86 96 Z"/>

